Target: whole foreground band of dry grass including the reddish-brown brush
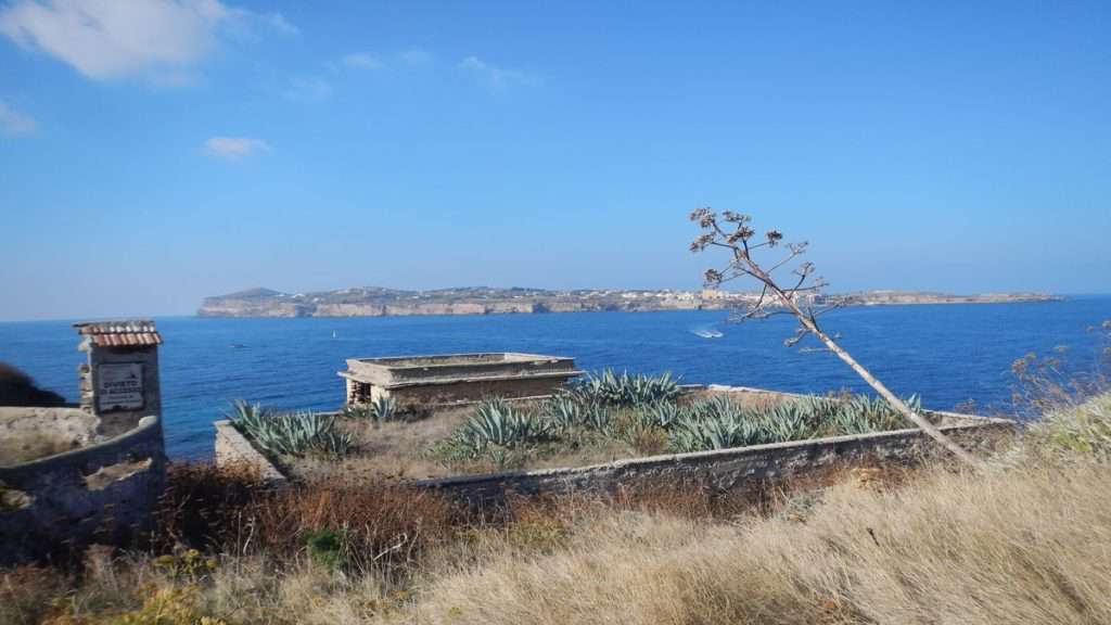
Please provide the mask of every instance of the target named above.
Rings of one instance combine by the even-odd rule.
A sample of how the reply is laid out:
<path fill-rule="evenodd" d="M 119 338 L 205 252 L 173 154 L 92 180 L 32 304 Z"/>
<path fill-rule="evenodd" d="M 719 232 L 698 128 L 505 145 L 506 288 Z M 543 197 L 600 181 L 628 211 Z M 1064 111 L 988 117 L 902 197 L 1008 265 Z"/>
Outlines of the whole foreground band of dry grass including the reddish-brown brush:
<path fill-rule="evenodd" d="M 496 523 L 397 484 L 276 493 L 179 467 L 154 552 L 172 556 L 0 573 L 0 623 L 1111 623 L 1111 464 L 1075 444 L 1104 440 L 1105 403 L 975 470 L 520 498 Z M 342 560 L 309 548 L 320 529 Z"/>

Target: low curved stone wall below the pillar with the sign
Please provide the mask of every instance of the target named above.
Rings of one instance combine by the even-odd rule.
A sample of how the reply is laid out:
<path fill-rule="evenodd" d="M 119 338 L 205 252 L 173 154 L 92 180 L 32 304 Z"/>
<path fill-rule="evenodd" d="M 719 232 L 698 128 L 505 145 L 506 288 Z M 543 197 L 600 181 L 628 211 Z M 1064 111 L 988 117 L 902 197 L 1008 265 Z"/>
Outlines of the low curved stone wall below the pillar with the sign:
<path fill-rule="evenodd" d="M 164 484 L 154 416 L 106 440 L 0 466 L 0 564 L 127 540 L 151 520 Z"/>

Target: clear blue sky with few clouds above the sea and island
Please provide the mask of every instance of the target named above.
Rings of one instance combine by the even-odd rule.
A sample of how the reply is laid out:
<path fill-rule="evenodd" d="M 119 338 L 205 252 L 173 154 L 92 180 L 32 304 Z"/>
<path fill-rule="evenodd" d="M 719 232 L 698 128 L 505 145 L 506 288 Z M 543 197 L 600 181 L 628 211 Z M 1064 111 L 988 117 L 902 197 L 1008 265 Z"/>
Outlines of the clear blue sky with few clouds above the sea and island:
<path fill-rule="evenodd" d="M 254 286 L 1111 291 L 1105 2 L 0 0 L 0 319 Z"/>

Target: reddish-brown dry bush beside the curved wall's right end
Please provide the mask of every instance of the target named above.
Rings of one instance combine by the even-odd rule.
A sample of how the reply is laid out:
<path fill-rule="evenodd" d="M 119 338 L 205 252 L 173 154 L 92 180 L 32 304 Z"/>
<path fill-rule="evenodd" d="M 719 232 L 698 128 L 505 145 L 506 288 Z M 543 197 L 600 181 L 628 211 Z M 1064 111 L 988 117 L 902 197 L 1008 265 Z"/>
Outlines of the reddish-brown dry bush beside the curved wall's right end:
<path fill-rule="evenodd" d="M 201 464 L 171 465 L 157 510 L 156 549 L 292 558 L 328 532 L 343 542 L 343 563 L 409 562 L 447 540 L 460 512 L 437 493 L 398 483 L 309 484 L 273 489 L 258 474 Z"/>

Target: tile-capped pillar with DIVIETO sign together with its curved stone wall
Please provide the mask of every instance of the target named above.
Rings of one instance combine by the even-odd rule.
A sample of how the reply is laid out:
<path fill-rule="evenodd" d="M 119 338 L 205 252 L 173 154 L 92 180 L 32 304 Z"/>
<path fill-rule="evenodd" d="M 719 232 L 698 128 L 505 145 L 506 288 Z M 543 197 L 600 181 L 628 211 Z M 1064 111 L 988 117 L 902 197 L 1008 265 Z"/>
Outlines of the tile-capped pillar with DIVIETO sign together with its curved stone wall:
<path fill-rule="evenodd" d="M 154 324 L 74 324 L 80 403 L 0 408 L 0 564 L 120 543 L 166 483 Z"/>

